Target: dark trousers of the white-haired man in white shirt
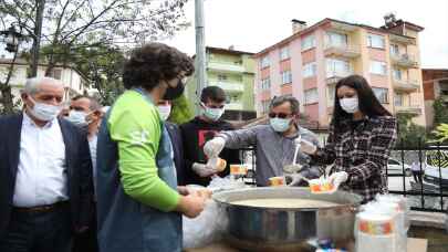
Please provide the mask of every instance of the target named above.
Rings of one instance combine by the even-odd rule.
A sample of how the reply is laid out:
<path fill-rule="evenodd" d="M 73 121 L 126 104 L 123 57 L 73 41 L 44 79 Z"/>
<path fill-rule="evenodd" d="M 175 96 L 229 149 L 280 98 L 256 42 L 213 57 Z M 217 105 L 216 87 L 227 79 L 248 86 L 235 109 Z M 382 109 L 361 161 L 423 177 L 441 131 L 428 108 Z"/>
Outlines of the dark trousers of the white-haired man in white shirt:
<path fill-rule="evenodd" d="M 12 210 L 1 252 L 70 252 L 72 224 L 69 204 L 48 212 Z"/>

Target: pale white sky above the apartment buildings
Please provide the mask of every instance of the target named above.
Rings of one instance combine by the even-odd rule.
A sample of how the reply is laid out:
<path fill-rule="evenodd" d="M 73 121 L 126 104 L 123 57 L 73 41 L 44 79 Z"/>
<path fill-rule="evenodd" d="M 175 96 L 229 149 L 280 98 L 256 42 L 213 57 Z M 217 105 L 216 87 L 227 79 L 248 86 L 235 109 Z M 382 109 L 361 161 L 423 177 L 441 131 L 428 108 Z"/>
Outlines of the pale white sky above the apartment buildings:
<path fill-rule="evenodd" d="M 206 45 L 235 46 L 235 50 L 260 52 L 292 33 L 291 20 L 312 25 L 325 18 L 384 24 L 384 14 L 424 27 L 420 32 L 421 67 L 448 69 L 448 1 L 409 0 L 205 0 Z M 169 45 L 195 54 L 195 0 L 185 9 L 191 27 L 164 40 Z"/>

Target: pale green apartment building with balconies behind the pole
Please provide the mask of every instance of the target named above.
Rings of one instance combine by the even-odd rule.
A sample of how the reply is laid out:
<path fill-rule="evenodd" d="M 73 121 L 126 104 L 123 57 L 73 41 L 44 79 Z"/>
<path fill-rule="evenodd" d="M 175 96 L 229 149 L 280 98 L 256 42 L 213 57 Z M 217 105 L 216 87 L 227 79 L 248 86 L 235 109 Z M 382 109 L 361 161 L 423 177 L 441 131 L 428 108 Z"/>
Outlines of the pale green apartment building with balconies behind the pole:
<path fill-rule="evenodd" d="M 257 116 L 254 108 L 254 71 L 253 53 L 229 49 L 206 48 L 206 86 L 219 86 L 227 94 L 227 120 L 247 120 Z M 187 84 L 187 98 L 196 114 L 196 77 Z"/>

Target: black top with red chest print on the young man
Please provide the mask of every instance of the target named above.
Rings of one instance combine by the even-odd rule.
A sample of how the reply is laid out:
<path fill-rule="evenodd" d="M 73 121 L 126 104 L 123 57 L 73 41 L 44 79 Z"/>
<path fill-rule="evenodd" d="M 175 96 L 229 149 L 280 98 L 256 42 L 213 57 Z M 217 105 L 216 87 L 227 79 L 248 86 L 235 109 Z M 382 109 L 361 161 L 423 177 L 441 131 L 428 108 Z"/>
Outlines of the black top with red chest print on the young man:
<path fill-rule="evenodd" d="M 210 178 L 199 177 L 192 169 L 194 162 L 206 164 L 207 157 L 204 154 L 204 145 L 221 130 L 233 130 L 233 126 L 225 120 L 208 123 L 199 117 L 180 125 L 184 141 L 185 176 L 187 183 L 208 186 Z M 239 150 L 225 148 L 219 155 L 227 161 L 226 170 L 218 174 L 220 177 L 229 175 L 229 165 L 240 164 Z"/>

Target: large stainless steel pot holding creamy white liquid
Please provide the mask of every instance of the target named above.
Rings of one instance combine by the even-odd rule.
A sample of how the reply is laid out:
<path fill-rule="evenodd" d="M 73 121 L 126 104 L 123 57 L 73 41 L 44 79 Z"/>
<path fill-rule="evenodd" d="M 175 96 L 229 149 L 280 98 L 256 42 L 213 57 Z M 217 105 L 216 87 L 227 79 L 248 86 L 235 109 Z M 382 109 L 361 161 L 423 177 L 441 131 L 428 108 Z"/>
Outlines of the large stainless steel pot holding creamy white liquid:
<path fill-rule="evenodd" d="M 336 202 L 327 208 L 261 208 L 233 204 L 238 200 L 293 198 Z M 354 217 L 361 196 L 336 191 L 314 195 L 305 188 L 250 188 L 222 191 L 213 199 L 229 218 L 227 240 L 249 251 L 301 251 L 310 240 L 353 239 Z"/>

